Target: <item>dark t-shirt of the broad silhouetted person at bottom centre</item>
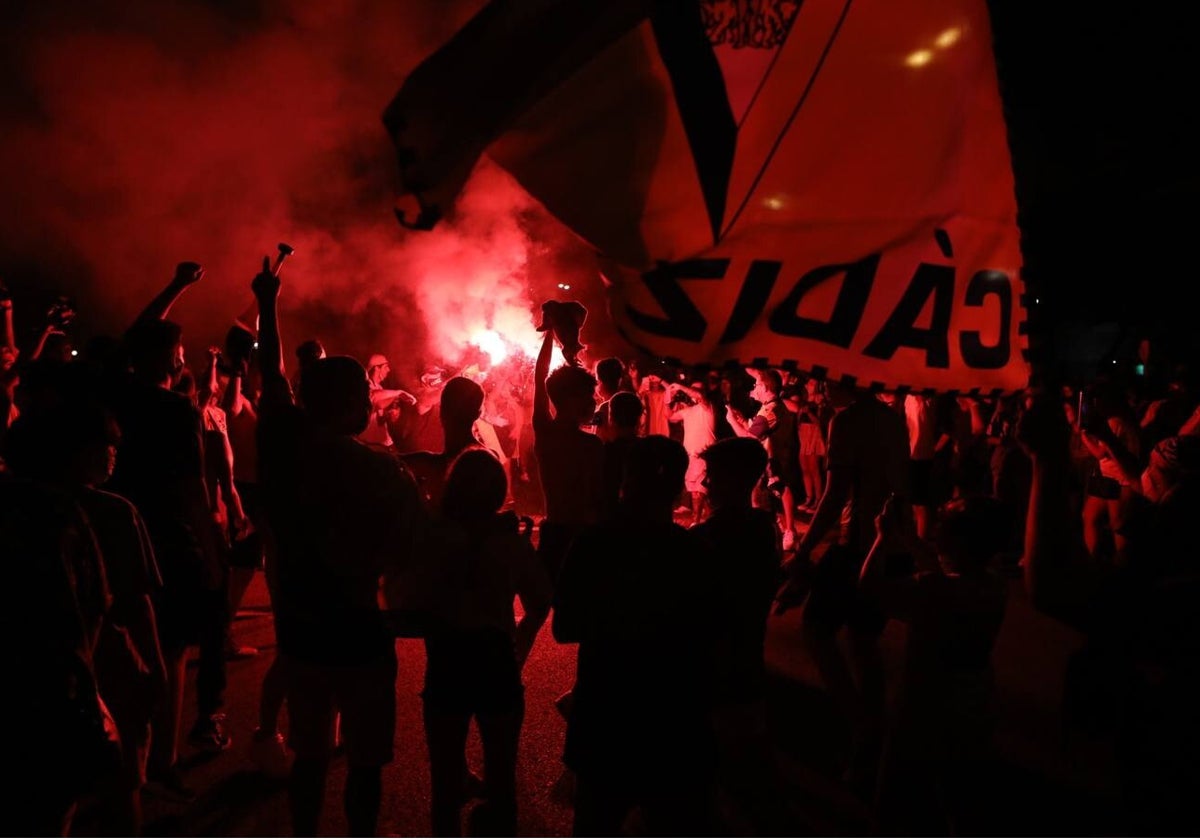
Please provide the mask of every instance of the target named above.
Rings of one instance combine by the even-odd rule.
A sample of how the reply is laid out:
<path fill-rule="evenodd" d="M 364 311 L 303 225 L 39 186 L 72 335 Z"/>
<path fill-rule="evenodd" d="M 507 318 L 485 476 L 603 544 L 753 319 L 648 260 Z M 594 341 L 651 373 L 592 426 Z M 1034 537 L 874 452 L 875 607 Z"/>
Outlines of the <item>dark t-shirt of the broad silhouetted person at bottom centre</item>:
<path fill-rule="evenodd" d="M 715 584 L 712 547 L 674 523 L 620 518 L 575 540 L 553 618 L 580 643 L 568 766 L 635 785 L 712 767 Z"/>

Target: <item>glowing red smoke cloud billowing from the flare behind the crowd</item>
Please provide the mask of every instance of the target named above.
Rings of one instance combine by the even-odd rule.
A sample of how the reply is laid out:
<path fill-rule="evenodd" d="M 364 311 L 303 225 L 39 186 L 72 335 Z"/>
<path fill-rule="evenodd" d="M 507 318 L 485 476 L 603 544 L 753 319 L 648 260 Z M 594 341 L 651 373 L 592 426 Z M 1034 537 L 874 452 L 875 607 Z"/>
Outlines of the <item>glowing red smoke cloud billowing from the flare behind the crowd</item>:
<path fill-rule="evenodd" d="M 80 332 L 116 332 L 196 260 L 206 276 L 172 318 L 197 359 L 286 241 L 288 347 L 384 352 L 408 378 L 480 330 L 535 346 L 536 304 L 564 280 L 595 312 L 594 341 L 587 248 L 494 164 L 433 232 L 392 216 L 382 109 L 480 5 L 18 4 L 0 35 L 0 274 L 18 304 L 71 294 Z"/>

